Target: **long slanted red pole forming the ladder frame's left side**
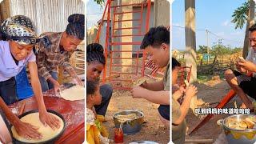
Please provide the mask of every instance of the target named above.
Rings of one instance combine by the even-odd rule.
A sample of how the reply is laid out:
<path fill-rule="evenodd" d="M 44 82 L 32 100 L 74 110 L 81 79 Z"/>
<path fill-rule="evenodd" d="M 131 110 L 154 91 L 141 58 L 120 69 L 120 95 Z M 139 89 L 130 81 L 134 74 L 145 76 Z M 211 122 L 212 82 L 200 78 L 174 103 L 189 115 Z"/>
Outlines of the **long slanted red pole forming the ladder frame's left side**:
<path fill-rule="evenodd" d="M 108 9 L 107 9 L 107 21 L 106 21 L 106 41 L 105 41 L 105 58 L 106 58 L 106 65 L 107 65 L 107 49 L 109 46 L 109 38 L 110 38 L 110 6 L 111 6 L 111 0 L 108 0 Z M 106 68 L 107 66 L 104 66 L 103 70 L 103 79 L 102 83 L 106 82 Z"/>

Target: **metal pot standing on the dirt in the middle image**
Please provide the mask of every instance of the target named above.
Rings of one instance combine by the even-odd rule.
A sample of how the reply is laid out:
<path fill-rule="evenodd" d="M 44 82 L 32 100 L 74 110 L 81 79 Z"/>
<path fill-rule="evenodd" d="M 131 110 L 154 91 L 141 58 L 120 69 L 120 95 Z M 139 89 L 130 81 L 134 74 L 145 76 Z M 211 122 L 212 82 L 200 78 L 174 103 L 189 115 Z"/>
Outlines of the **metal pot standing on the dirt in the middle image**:
<path fill-rule="evenodd" d="M 138 110 L 123 110 L 121 112 L 115 113 L 114 125 L 116 128 L 120 127 L 120 122 L 118 121 L 118 115 L 136 114 L 138 118 L 125 122 L 122 125 L 123 134 L 137 134 L 142 129 L 142 123 L 144 121 L 144 114 Z"/>

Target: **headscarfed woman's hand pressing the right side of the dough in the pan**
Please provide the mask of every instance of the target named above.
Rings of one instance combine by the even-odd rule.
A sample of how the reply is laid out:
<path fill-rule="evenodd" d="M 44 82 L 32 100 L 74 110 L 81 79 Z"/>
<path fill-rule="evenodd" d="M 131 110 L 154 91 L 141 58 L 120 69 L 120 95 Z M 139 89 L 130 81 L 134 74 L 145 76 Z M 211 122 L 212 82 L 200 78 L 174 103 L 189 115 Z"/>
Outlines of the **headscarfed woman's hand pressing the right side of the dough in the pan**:
<path fill-rule="evenodd" d="M 56 130 L 60 127 L 60 122 L 58 118 L 55 118 L 54 115 L 48 113 L 48 112 L 39 112 L 39 118 L 40 121 L 44 126 L 50 126 L 53 130 Z"/>

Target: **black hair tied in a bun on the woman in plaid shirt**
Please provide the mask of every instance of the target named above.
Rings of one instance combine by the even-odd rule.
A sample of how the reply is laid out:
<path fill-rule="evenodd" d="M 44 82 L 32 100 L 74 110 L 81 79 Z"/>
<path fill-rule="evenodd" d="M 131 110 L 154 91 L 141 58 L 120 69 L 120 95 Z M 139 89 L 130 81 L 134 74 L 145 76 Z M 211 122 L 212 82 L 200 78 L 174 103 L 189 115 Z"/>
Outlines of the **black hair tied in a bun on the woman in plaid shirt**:
<path fill-rule="evenodd" d="M 66 26 L 66 34 L 83 40 L 85 38 L 85 15 L 71 14 L 67 21 L 69 24 Z"/>

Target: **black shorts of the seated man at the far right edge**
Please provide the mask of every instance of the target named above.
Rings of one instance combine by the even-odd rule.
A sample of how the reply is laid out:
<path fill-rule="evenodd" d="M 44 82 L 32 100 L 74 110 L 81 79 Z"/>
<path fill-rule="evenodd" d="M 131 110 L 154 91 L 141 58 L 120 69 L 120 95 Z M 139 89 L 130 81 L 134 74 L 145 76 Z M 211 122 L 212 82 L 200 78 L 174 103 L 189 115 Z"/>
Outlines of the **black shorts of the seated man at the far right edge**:
<path fill-rule="evenodd" d="M 243 92 L 249 95 L 251 98 L 256 99 L 256 78 L 241 74 L 237 70 L 232 71 L 235 77 L 238 79 L 238 86 L 243 90 Z"/>

